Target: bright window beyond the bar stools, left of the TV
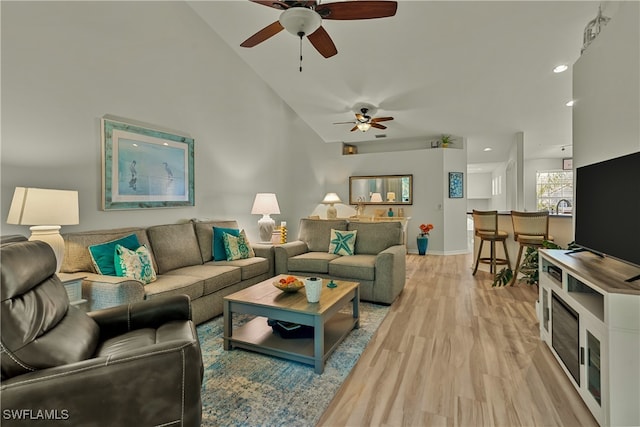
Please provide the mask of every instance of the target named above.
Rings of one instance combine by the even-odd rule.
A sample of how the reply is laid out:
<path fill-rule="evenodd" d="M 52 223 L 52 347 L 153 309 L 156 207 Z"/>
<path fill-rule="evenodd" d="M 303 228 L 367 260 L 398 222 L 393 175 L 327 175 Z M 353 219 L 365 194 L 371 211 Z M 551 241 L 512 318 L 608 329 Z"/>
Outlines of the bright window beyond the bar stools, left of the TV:
<path fill-rule="evenodd" d="M 536 172 L 536 198 L 540 211 L 572 213 L 573 171 Z"/>

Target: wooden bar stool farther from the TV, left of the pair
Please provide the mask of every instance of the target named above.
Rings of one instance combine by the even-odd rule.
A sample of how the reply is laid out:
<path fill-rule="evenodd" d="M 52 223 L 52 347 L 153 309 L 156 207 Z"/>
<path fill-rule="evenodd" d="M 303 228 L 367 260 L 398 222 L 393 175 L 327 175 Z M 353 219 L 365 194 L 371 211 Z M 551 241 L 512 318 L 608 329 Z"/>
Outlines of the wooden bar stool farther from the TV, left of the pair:
<path fill-rule="evenodd" d="M 480 238 L 480 247 L 478 248 L 478 256 L 476 257 L 476 265 L 473 267 L 473 275 L 478 271 L 478 264 L 490 264 L 489 271 L 496 273 L 496 265 L 506 264 L 511 268 L 511 261 L 509 260 L 509 252 L 507 251 L 507 237 L 509 234 L 506 231 L 498 230 L 498 211 L 478 211 L 473 210 L 473 229 L 474 234 Z M 489 257 L 482 257 L 482 245 L 485 241 L 491 243 L 491 252 Z M 504 247 L 505 258 L 497 258 L 496 256 L 496 242 L 502 242 Z"/>

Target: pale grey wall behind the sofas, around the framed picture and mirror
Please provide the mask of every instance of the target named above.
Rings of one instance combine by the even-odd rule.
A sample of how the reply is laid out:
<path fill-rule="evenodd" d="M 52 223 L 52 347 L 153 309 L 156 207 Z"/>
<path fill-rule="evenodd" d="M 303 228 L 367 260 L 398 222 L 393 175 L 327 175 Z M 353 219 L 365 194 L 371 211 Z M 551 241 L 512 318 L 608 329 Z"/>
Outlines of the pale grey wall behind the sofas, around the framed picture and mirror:
<path fill-rule="evenodd" d="M 296 236 L 299 218 L 326 192 L 347 200 L 350 175 L 412 173 L 410 248 L 422 222 L 436 226 L 430 251 L 444 253 L 445 240 L 449 251 L 466 248 L 455 232 L 458 221 L 466 228 L 458 218 L 465 207 L 445 206 L 444 149 L 342 156 L 339 144 L 321 141 L 188 5 L 3 1 L 0 7 L 1 234 L 29 233 L 5 223 L 14 188 L 29 186 L 79 191 L 80 224 L 63 232 L 196 217 L 237 219 L 250 239 L 258 234 L 258 216 L 250 214 L 255 193 L 276 192 L 282 214 L 273 217 Z M 105 114 L 195 139 L 195 207 L 100 210 Z M 453 157 L 451 170 L 466 171 L 466 162 L 458 166 L 464 160 Z M 452 210 L 447 226 L 445 208 Z"/>

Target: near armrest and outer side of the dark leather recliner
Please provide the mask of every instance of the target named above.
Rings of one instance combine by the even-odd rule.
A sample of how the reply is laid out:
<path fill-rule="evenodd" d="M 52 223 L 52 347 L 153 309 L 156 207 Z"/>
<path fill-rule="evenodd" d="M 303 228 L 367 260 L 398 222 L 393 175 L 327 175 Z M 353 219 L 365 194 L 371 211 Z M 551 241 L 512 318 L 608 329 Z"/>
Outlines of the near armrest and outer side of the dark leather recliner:
<path fill-rule="evenodd" d="M 109 426 L 200 426 L 202 356 L 193 324 L 182 331 L 152 346 L 3 380 L 2 408 L 55 411 L 53 424 L 60 426 L 96 425 L 98 420 Z M 162 410 L 141 411 L 149 402 Z M 38 424 L 28 419 L 5 422 Z"/>

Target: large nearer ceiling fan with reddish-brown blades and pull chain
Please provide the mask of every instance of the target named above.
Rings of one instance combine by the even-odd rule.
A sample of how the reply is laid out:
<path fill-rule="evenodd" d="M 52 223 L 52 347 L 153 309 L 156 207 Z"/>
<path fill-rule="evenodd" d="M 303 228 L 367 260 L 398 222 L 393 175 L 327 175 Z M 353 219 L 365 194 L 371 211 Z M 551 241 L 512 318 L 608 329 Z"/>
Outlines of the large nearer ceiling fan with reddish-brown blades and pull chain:
<path fill-rule="evenodd" d="M 388 0 L 358 0 L 322 3 L 316 0 L 250 0 L 274 9 L 282 10 L 280 18 L 267 25 L 247 40 L 242 47 L 253 47 L 275 36 L 283 29 L 302 38 L 306 36 L 313 47 L 325 58 L 330 58 L 338 50 L 322 27 L 323 19 L 354 20 L 386 18 L 396 14 L 398 3 Z M 302 55 L 301 55 L 302 56 Z"/>

